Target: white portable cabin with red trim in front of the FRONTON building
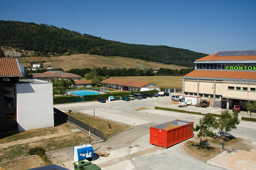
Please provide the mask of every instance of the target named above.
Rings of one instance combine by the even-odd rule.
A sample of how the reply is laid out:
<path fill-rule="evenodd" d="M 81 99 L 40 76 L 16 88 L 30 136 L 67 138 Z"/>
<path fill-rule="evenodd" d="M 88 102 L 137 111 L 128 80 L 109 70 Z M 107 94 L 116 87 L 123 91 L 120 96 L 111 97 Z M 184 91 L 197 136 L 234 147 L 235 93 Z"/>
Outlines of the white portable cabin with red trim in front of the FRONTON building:
<path fill-rule="evenodd" d="M 178 107 L 186 106 L 187 105 L 197 105 L 201 102 L 201 96 L 193 96 L 187 94 L 179 95 L 179 104 Z"/>

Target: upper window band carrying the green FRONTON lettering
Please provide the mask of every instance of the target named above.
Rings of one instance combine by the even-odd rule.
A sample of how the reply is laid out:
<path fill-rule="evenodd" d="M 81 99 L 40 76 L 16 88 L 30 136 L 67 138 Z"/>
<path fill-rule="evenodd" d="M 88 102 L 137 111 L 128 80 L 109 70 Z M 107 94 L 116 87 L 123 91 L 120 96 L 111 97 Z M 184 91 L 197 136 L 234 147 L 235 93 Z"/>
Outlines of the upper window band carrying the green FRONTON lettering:
<path fill-rule="evenodd" d="M 256 71 L 256 63 L 196 63 L 195 69 Z"/>

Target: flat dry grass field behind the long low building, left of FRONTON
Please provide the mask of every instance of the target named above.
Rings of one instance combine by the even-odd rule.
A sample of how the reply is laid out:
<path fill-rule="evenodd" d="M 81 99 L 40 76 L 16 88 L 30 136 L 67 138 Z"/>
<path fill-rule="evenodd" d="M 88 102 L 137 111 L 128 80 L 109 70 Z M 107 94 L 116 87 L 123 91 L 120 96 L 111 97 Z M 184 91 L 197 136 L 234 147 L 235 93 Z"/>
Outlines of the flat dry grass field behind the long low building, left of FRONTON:
<path fill-rule="evenodd" d="M 127 77 L 110 77 L 124 80 L 134 80 L 143 82 L 152 82 L 156 86 L 162 88 L 181 88 L 182 89 L 182 76 L 127 76 Z"/>

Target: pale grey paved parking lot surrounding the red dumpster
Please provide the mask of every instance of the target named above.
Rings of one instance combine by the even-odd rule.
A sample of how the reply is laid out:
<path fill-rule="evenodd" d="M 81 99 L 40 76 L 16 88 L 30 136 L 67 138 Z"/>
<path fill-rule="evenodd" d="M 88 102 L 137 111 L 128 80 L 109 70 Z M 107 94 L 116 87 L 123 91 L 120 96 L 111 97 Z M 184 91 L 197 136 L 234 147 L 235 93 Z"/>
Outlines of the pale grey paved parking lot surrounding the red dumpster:
<path fill-rule="evenodd" d="M 106 103 L 99 102 L 82 102 L 55 105 L 59 110 L 67 112 L 68 110 L 79 111 L 86 114 L 93 114 L 93 107 L 95 108 L 95 116 L 105 118 L 111 121 L 120 122 L 129 126 L 133 126 L 132 130 L 119 133 L 104 143 L 93 145 L 95 153 L 97 151 L 108 151 L 108 157 L 94 157 L 94 164 L 101 167 L 102 170 L 113 169 L 127 169 L 127 170 L 141 170 L 141 169 L 235 169 L 234 166 L 228 165 L 225 159 L 216 159 L 209 161 L 209 163 L 201 162 L 183 150 L 184 142 L 165 149 L 149 144 L 149 127 L 160 123 L 180 119 L 193 121 L 198 123 L 201 115 L 193 115 L 188 113 L 170 112 L 162 110 L 154 110 L 155 106 L 169 107 L 175 109 L 196 111 L 202 113 L 216 113 L 220 114 L 221 109 L 198 108 L 195 106 L 188 106 L 186 108 L 178 108 L 177 105 L 168 105 L 171 101 L 170 97 L 147 98 L 133 101 L 107 101 Z M 135 111 L 135 108 L 147 107 L 151 109 L 143 111 Z M 245 112 L 239 113 L 241 116 L 250 117 Z M 253 114 L 252 117 L 255 117 Z M 134 124 L 135 123 L 135 124 Z M 241 121 L 237 126 L 237 130 L 230 132 L 231 135 L 242 137 L 251 141 L 251 152 L 255 153 L 254 147 L 256 143 L 256 123 Z M 218 132 L 218 130 L 215 130 Z M 112 149 L 111 149 L 112 148 Z M 238 150 L 237 150 L 238 151 Z M 65 166 L 68 169 L 73 169 L 73 149 L 56 151 L 49 156 L 54 157 L 56 164 Z M 223 152 L 224 153 L 224 152 Z M 239 153 L 239 152 L 237 152 Z M 241 153 L 241 152 L 240 152 Z M 240 154 L 239 153 L 239 154 Z M 224 153 L 226 154 L 226 153 Z M 236 153 L 231 153 L 235 154 Z M 244 154 L 244 153 L 243 153 Z M 227 156 L 227 155 L 220 155 Z M 219 156 L 215 157 L 218 158 Z M 59 159 L 61 158 L 61 159 Z M 226 160 L 229 157 L 227 157 Z M 224 162 L 220 162 L 224 161 Z M 58 161 L 58 163 L 57 163 Z M 217 162 L 217 163 L 216 163 Z M 256 168 L 251 164 L 256 165 L 255 160 L 250 162 L 242 162 L 244 167 Z M 231 163 L 230 163 L 231 164 Z"/>

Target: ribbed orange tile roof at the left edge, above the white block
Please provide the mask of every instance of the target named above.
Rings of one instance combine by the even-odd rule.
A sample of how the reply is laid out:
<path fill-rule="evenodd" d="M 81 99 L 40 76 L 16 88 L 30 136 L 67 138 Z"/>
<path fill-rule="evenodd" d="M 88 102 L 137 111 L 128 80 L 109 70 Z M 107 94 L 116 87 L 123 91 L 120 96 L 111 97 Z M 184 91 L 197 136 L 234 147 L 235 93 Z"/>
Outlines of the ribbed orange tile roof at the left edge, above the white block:
<path fill-rule="evenodd" d="M 0 58 L 0 76 L 21 76 L 16 58 Z"/>

